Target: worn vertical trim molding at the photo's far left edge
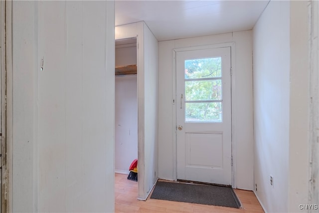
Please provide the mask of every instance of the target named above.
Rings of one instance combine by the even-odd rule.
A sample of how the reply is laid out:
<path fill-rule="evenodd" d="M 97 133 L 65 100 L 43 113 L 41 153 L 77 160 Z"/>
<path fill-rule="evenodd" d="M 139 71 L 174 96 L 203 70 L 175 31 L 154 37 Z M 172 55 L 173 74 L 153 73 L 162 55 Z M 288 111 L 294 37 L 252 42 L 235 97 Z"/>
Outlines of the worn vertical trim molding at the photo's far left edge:
<path fill-rule="evenodd" d="M 1 1 L 1 212 L 12 212 L 12 1 Z"/>

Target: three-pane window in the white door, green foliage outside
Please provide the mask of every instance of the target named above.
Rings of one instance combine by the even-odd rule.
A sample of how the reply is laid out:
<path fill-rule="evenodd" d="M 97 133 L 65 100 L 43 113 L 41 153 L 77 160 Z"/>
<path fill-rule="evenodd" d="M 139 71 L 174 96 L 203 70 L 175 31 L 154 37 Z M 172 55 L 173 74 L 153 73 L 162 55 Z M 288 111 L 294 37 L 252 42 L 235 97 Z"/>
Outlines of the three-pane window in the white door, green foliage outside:
<path fill-rule="evenodd" d="M 184 61 L 185 122 L 222 122 L 221 60 L 213 57 Z"/>

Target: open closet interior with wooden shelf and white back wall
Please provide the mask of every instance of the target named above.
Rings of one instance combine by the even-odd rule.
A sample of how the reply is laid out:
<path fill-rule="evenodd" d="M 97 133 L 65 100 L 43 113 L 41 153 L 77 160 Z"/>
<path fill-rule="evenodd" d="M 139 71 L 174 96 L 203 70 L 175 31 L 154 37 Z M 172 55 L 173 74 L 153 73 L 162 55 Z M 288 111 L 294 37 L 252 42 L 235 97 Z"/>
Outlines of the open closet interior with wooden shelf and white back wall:
<path fill-rule="evenodd" d="M 136 37 L 115 41 L 115 173 L 128 176 L 135 159 L 138 159 Z"/>

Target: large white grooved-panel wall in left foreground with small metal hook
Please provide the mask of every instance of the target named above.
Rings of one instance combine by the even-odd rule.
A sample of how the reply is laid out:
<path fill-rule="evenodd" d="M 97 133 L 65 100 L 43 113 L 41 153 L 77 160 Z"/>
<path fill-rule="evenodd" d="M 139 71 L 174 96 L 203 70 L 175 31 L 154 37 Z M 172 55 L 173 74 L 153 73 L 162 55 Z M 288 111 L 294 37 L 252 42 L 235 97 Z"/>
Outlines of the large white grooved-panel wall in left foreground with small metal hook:
<path fill-rule="evenodd" d="M 114 212 L 114 2 L 14 1 L 12 19 L 13 212 Z"/>

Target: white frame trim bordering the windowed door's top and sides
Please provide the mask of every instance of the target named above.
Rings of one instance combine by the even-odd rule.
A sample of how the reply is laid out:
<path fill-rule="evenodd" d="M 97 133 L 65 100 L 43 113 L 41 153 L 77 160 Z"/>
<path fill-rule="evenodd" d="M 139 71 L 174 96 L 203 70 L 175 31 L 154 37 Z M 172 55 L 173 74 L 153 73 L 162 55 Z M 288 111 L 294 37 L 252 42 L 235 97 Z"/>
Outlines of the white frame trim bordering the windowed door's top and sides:
<path fill-rule="evenodd" d="M 173 135 L 173 179 L 177 180 L 177 104 L 176 104 L 176 52 L 180 51 L 191 51 L 191 50 L 200 50 L 200 49 L 211 49 L 211 48 L 220 48 L 220 47 L 230 47 L 231 49 L 231 68 L 232 68 L 232 76 L 231 76 L 231 90 L 236 88 L 235 85 L 235 42 L 227 42 L 227 43 L 220 43 L 220 44 L 211 44 L 211 45 L 203 45 L 203 46 L 192 46 L 192 47 L 184 47 L 184 48 L 175 48 L 172 50 L 172 79 L 173 79 L 173 125 L 172 128 L 174 129 L 174 135 Z M 236 156 L 236 143 L 234 141 L 234 135 L 235 135 L 235 127 L 234 124 L 236 123 L 236 116 L 233 113 L 235 108 L 235 100 L 231 93 L 231 147 L 232 147 L 232 159 L 233 159 L 233 165 L 232 165 L 232 188 L 237 188 L 237 182 L 236 182 L 236 173 L 237 173 L 237 156 Z"/>

